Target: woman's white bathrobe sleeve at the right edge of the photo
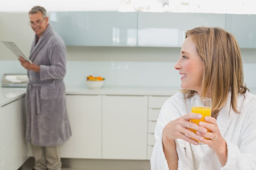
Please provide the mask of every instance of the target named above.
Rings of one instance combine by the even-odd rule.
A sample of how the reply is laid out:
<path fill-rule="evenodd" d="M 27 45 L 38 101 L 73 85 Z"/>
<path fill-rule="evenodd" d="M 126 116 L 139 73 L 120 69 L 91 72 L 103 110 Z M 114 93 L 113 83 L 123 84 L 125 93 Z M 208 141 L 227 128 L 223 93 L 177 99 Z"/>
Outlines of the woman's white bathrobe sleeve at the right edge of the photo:
<path fill-rule="evenodd" d="M 227 143 L 227 163 L 221 170 L 256 170 L 256 95 L 246 93 L 242 106 L 239 130 L 234 131 L 237 142 L 224 137 Z M 238 135 L 239 134 L 239 135 Z"/>

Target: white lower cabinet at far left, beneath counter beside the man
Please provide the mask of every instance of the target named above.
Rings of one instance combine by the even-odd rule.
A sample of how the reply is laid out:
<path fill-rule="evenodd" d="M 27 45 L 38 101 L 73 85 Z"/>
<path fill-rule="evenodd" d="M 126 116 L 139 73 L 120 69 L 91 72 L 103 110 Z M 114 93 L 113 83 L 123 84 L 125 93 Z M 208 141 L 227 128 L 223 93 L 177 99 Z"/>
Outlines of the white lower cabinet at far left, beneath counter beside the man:
<path fill-rule="evenodd" d="M 0 108 L 0 169 L 17 170 L 29 158 L 25 97 Z"/>

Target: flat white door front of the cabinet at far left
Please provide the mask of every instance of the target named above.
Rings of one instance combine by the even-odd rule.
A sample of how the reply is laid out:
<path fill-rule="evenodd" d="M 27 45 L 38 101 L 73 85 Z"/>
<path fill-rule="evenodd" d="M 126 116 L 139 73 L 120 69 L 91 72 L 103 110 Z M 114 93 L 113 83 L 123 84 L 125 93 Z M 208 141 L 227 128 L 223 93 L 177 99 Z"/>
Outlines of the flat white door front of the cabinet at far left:
<path fill-rule="evenodd" d="M 22 163 L 20 100 L 0 108 L 0 169 L 17 170 Z M 22 140 L 23 141 L 23 140 Z"/>

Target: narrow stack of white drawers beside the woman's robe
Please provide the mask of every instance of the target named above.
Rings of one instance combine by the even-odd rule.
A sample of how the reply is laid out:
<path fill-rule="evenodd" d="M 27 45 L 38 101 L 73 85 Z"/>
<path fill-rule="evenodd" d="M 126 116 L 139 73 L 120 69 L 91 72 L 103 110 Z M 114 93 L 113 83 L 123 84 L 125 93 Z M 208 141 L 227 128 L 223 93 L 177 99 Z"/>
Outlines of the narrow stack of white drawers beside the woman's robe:
<path fill-rule="evenodd" d="M 155 125 L 160 110 L 170 96 L 148 96 L 148 141 L 147 159 L 150 160 L 155 145 Z"/>

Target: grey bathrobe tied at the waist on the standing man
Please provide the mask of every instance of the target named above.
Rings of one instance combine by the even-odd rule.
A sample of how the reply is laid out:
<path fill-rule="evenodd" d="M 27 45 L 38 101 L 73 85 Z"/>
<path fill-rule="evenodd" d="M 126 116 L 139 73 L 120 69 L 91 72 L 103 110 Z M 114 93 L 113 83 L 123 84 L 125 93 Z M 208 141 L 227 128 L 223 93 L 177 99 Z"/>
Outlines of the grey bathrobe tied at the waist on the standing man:
<path fill-rule="evenodd" d="M 65 104 L 66 47 L 49 24 L 32 42 L 29 59 L 40 72 L 28 71 L 26 139 L 36 146 L 57 146 L 72 135 Z"/>

